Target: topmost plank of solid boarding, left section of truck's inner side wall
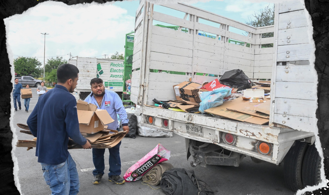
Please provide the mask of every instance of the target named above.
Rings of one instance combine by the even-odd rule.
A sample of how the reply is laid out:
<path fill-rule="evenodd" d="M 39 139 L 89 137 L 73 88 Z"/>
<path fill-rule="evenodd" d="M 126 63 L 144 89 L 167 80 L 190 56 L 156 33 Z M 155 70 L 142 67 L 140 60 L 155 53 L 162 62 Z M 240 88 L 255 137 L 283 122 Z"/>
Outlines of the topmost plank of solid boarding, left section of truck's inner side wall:
<path fill-rule="evenodd" d="M 152 34 L 193 42 L 192 34 L 182 33 L 172 29 L 163 28 L 160 26 L 152 26 Z"/>

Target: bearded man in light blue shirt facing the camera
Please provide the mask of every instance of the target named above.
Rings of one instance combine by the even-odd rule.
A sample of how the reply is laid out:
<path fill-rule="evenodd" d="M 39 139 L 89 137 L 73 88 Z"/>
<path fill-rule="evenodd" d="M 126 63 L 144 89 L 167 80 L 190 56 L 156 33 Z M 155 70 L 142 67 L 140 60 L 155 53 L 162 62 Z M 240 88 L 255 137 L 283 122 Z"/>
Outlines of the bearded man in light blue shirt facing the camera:
<path fill-rule="evenodd" d="M 105 90 L 103 85 L 103 80 L 99 78 L 93 78 L 90 81 L 91 93 L 85 99 L 86 102 L 94 104 L 98 109 L 107 110 L 107 112 L 114 119 L 113 123 L 107 124 L 108 129 L 119 130 L 117 115 L 119 115 L 122 121 L 123 131 L 129 132 L 128 119 L 126 110 L 123 107 L 122 101 L 118 94 L 114 91 Z M 121 159 L 120 159 L 120 143 L 118 143 L 113 148 L 109 148 L 109 181 L 116 184 L 122 184 L 125 182 L 121 175 Z M 93 148 L 92 149 L 92 161 L 94 163 L 95 169 L 92 171 L 94 179 L 93 184 L 99 184 L 101 182 L 102 176 L 104 175 L 104 153 L 105 149 Z"/>

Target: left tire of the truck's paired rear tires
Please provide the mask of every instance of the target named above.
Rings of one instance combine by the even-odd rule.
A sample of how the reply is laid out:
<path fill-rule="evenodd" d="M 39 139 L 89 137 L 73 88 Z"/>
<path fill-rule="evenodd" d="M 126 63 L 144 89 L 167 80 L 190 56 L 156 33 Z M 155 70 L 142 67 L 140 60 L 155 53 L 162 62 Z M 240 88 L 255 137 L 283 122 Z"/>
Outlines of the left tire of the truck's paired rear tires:
<path fill-rule="evenodd" d="M 292 191 L 303 188 L 302 165 L 308 143 L 296 141 L 287 153 L 284 161 L 285 183 Z"/>

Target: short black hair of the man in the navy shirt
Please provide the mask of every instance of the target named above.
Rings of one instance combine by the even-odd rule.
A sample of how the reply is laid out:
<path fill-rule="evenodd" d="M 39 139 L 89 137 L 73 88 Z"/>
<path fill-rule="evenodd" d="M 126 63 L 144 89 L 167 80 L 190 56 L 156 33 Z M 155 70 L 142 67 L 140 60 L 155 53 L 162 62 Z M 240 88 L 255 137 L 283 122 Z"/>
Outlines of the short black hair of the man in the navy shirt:
<path fill-rule="evenodd" d="M 79 69 L 72 64 L 62 64 L 57 68 L 57 82 L 65 83 L 67 80 L 78 77 Z"/>

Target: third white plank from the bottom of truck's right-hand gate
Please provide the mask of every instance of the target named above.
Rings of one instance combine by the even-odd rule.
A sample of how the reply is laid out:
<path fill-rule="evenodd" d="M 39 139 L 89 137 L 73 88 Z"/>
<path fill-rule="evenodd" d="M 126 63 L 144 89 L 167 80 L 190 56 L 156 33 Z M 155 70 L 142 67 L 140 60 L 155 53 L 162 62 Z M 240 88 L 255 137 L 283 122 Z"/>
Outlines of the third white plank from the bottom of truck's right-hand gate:
<path fill-rule="evenodd" d="M 315 83 L 306 82 L 276 82 L 275 97 L 302 100 L 316 100 Z"/>

